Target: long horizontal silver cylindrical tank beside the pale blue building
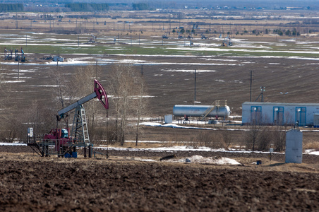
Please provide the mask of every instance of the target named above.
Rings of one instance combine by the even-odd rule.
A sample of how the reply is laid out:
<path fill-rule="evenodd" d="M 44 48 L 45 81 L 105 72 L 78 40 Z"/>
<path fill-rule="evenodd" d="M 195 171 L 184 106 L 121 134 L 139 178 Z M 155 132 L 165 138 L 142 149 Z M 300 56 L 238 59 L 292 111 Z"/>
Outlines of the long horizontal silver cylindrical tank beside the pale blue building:
<path fill-rule="evenodd" d="M 175 105 L 173 114 L 175 117 L 201 117 L 212 105 Z M 224 117 L 228 118 L 230 109 L 227 105 L 214 107 L 212 112 L 207 117 Z"/>

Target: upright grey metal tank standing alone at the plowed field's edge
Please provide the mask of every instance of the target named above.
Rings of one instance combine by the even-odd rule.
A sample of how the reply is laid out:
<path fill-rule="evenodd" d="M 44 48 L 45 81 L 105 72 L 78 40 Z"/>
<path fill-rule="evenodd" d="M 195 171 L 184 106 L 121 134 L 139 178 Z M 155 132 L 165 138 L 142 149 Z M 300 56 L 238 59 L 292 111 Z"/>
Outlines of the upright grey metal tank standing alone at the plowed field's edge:
<path fill-rule="evenodd" d="M 289 129 L 286 133 L 286 163 L 302 163 L 302 131 Z"/>

